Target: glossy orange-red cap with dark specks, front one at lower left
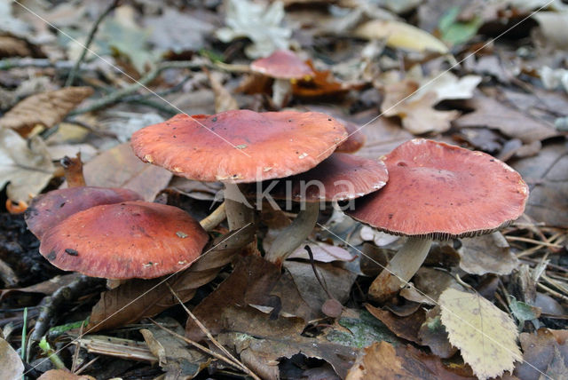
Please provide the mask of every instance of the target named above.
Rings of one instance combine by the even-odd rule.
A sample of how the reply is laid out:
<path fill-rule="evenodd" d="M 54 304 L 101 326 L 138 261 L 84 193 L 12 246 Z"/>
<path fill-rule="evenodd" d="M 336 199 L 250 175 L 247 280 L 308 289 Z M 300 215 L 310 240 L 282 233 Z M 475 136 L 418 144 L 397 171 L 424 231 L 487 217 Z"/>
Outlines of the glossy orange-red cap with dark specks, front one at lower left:
<path fill-rule="evenodd" d="M 65 271 L 151 279 L 191 265 L 208 240 L 184 210 L 135 201 L 75 213 L 43 235 L 39 251 Z"/>

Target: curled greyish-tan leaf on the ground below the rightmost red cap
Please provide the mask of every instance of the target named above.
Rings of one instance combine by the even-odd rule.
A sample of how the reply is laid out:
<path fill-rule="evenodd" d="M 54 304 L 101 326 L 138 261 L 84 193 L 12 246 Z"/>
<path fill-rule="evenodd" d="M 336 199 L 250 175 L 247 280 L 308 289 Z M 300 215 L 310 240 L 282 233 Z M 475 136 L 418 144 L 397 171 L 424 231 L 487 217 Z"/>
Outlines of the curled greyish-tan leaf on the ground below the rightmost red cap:
<path fill-rule="evenodd" d="M 461 239 L 460 268 L 470 274 L 510 274 L 517 268 L 517 256 L 509 250 L 509 243 L 496 231 L 475 238 Z"/>

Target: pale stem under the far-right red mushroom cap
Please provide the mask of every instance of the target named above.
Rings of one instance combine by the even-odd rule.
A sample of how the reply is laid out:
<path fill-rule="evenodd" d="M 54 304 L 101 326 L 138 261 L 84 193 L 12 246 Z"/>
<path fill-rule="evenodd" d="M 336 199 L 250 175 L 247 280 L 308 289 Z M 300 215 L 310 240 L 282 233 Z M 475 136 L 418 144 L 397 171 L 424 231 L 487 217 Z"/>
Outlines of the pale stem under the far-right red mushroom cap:
<path fill-rule="evenodd" d="M 375 301 L 385 301 L 394 296 L 420 269 L 431 245 L 430 238 L 409 237 L 406 244 L 373 281 L 369 288 L 369 297 Z"/>

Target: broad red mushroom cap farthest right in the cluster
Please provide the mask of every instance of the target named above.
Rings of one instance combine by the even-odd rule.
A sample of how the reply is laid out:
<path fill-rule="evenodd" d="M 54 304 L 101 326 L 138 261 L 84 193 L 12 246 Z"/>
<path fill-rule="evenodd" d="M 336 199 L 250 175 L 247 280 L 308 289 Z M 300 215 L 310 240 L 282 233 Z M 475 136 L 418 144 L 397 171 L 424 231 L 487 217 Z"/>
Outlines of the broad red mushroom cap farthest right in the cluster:
<path fill-rule="evenodd" d="M 488 234 L 525 210 L 525 181 L 489 154 L 413 139 L 383 161 L 388 184 L 346 213 L 386 233 L 439 240 Z"/>

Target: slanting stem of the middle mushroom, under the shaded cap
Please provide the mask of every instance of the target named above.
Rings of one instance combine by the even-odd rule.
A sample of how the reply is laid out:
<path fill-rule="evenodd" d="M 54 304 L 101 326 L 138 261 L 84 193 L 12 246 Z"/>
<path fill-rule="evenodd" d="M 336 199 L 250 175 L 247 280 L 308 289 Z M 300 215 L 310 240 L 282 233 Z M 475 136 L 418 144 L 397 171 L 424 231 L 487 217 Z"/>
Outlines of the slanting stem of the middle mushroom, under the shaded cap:
<path fill-rule="evenodd" d="M 271 263 L 281 265 L 286 257 L 298 248 L 312 233 L 319 216 L 319 202 L 305 202 L 294 222 L 286 227 L 272 242 L 264 258 Z"/>

